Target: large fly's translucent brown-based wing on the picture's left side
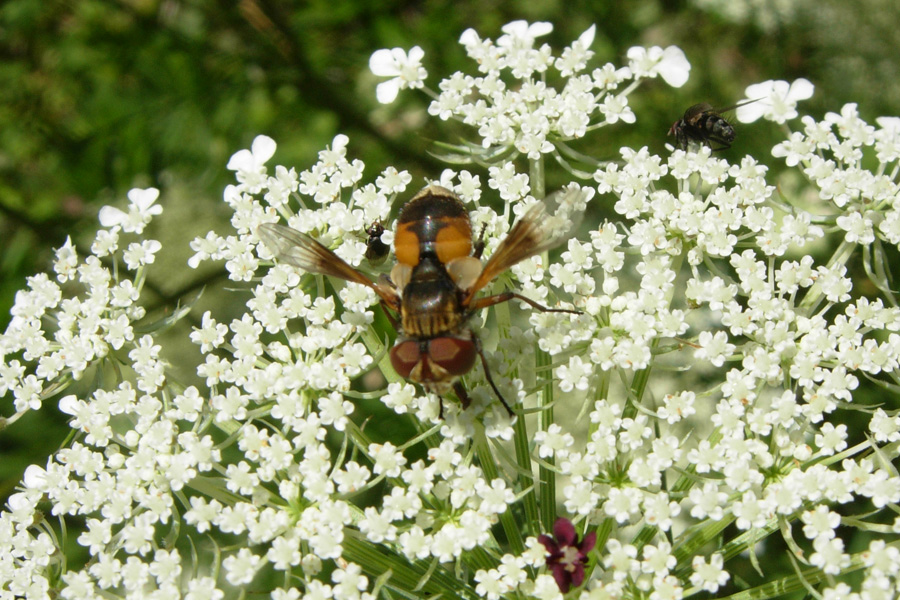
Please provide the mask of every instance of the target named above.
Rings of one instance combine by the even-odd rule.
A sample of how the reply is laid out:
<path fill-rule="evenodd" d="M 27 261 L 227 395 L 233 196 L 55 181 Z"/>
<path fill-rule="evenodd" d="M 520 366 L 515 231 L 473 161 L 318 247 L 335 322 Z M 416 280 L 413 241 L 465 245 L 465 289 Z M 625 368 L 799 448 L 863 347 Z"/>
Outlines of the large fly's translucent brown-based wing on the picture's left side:
<path fill-rule="evenodd" d="M 331 275 L 370 287 L 391 308 L 400 304 L 395 289 L 383 283 L 375 283 L 305 233 L 284 225 L 264 223 L 257 228 L 256 234 L 279 261 L 310 273 Z"/>

